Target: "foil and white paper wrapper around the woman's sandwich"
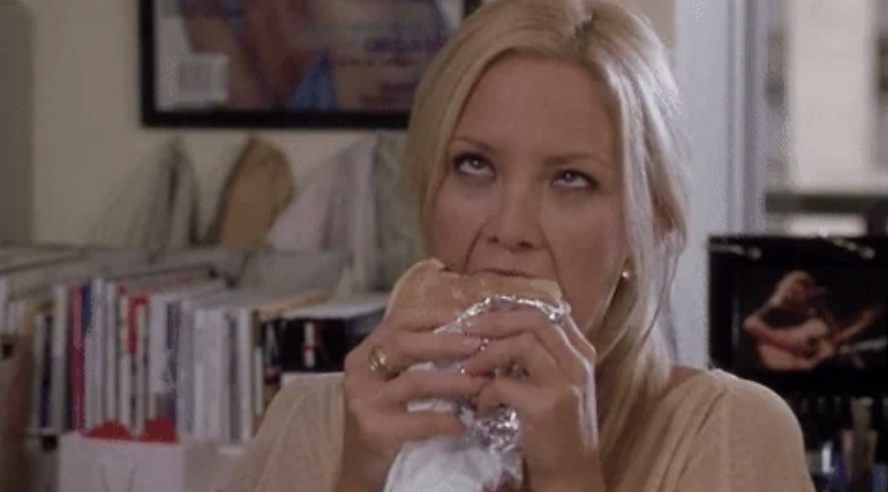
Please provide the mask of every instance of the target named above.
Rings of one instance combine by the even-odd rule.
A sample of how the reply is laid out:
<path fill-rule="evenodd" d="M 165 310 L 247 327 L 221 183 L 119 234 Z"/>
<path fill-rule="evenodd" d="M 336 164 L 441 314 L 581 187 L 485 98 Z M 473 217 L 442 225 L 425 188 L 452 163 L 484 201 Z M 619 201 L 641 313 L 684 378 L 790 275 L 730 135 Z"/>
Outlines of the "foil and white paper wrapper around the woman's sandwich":
<path fill-rule="evenodd" d="M 437 333 L 464 332 L 465 323 L 482 313 L 515 307 L 533 307 L 547 315 L 554 327 L 559 327 L 569 314 L 566 304 L 552 305 L 541 301 L 508 296 L 485 299 L 453 323 L 436 330 Z M 411 371 L 460 371 L 460 363 L 423 363 Z M 520 377 L 520 369 L 504 368 Z M 389 470 L 384 492 L 481 492 L 496 490 L 504 483 L 520 489 L 522 456 L 518 449 L 521 423 L 511 408 L 499 408 L 484 418 L 475 418 L 470 402 L 425 400 L 413 402 L 410 411 L 435 410 L 459 416 L 469 431 L 460 437 L 438 437 L 408 443 L 401 448 Z"/>

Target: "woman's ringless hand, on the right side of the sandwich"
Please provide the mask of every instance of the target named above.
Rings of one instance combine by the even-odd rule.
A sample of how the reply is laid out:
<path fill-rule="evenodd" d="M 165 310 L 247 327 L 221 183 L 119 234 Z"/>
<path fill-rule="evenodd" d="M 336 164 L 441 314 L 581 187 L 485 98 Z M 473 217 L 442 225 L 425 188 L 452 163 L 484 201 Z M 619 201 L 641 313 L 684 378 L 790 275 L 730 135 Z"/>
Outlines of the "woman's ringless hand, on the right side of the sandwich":
<path fill-rule="evenodd" d="M 477 398 L 479 414 L 498 405 L 521 419 L 521 449 L 530 490 L 604 490 L 598 457 L 595 349 L 571 320 L 558 329 L 533 308 L 490 312 L 466 332 L 491 341 L 465 363 L 469 374 L 517 365 L 521 380 L 497 377 Z"/>

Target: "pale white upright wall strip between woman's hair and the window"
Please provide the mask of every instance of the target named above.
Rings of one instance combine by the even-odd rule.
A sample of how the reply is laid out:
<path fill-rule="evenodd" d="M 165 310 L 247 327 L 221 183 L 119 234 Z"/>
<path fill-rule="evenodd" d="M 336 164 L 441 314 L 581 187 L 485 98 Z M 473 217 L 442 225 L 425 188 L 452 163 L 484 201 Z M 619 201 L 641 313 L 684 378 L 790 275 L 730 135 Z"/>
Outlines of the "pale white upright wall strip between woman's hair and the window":
<path fill-rule="evenodd" d="M 765 0 L 762 0 L 765 1 Z M 766 155 L 750 128 L 747 89 L 755 63 L 743 60 L 746 34 L 757 29 L 754 2 L 676 1 L 676 78 L 691 140 L 688 244 L 676 272 L 673 295 L 678 358 L 695 367 L 708 363 L 709 253 L 711 235 L 748 232 L 757 222 Z M 763 73 L 758 74 L 759 77 Z M 759 81 L 761 82 L 761 81 Z M 745 103 L 744 103 L 745 102 Z M 759 105 L 763 101 L 758 101 Z"/>

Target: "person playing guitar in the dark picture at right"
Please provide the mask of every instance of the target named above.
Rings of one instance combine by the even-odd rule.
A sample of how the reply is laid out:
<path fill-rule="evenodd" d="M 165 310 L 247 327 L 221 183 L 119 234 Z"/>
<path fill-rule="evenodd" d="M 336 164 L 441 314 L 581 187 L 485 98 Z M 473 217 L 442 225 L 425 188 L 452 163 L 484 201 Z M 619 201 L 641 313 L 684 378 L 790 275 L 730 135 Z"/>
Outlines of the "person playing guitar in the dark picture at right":
<path fill-rule="evenodd" d="M 835 357 L 881 314 L 880 308 L 870 307 L 840 323 L 826 305 L 826 295 L 811 274 L 795 270 L 780 279 L 764 306 L 746 317 L 743 328 L 757 340 L 765 368 L 811 370 Z"/>

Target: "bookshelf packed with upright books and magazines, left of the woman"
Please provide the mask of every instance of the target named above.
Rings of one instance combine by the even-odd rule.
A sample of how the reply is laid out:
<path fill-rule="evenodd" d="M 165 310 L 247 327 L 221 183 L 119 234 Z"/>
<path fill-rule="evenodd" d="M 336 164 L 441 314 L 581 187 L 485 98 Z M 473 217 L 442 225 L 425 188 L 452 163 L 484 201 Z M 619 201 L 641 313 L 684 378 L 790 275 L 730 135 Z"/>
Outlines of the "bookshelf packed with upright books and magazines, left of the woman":
<path fill-rule="evenodd" d="M 25 462 L 29 492 L 218 490 L 288 378 L 341 371 L 388 299 L 342 286 L 341 251 L 48 254 L 0 246 L 0 382 L 31 362 L 0 472 Z"/>

